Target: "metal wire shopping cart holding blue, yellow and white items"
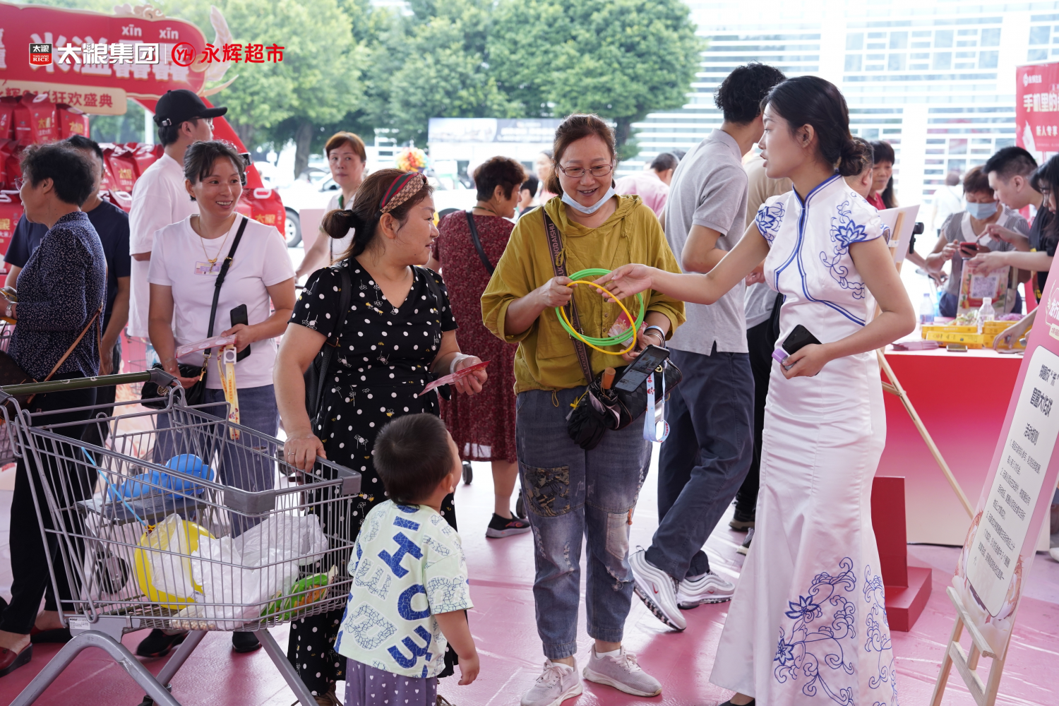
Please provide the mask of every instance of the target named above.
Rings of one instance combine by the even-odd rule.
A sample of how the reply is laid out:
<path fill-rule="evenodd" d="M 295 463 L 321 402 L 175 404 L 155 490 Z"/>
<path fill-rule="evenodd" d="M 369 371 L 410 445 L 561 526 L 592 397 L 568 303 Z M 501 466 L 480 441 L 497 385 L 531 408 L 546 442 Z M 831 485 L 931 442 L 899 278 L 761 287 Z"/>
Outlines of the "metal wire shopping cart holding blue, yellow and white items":
<path fill-rule="evenodd" d="M 11 385 L 0 404 L 147 380 L 173 378 L 155 369 Z M 268 628 L 344 605 L 353 547 L 344 528 L 359 473 L 319 457 L 299 471 L 280 440 L 210 414 L 216 405 L 185 405 L 179 386 L 163 410 L 83 408 L 97 414 L 91 423 L 108 426 L 106 448 L 68 436 L 84 421 L 50 423 L 54 413 L 14 409 L 3 409 L 5 427 L 38 481 L 52 587 L 74 636 L 14 706 L 32 704 L 87 647 L 107 651 L 146 690 L 145 703 L 179 706 L 169 680 L 214 630 L 254 632 L 301 703 L 316 703 Z M 121 644 L 147 628 L 191 631 L 157 678 Z"/>

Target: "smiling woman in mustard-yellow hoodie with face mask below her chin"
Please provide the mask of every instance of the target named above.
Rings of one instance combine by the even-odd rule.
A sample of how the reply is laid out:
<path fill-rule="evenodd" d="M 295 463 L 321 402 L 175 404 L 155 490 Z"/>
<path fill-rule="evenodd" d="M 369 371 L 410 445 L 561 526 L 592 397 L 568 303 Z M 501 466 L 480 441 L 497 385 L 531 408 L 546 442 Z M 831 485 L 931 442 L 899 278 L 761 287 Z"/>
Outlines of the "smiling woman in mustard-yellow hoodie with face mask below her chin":
<path fill-rule="evenodd" d="M 526 518 L 534 533 L 534 602 L 544 669 L 522 696 L 522 706 L 550 706 L 581 693 L 577 653 L 581 542 L 588 542 L 586 610 L 595 644 L 585 677 L 641 696 L 661 693 L 658 680 L 636 665 L 622 646 L 632 604 L 628 518 L 650 461 L 642 421 L 604 432 L 586 451 L 568 434 L 567 414 L 590 382 L 607 367 L 628 365 L 633 355 L 587 349 L 584 366 L 555 307 L 573 300 L 591 337 L 607 336 L 620 316 L 587 291 L 571 287 L 587 268 L 651 263 L 678 272 L 658 218 L 639 196 L 618 196 L 614 133 L 598 115 L 574 114 L 555 131 L 555 161 L 544 187 L 561 196 L 520 218 L 489 286 L 482 294 L 482 319 L 493 336 L 518 343 L 515 355 L 515 438 Z M 551 223 L 551 225 L 549 225 Z M 552 230 L 554 229 L 554 230 Z M 548 235 L 552 230 L 553 238 Z M 555 243 L 554 247 L 552 243 Z M 557 251 L 553 255 L 553 251 Z M 640 304 L 624 302 L 632 315 Z M 671 297 L 644 296 L 644 328 L 635 350 L 664 345 L 684 321 Z M 635 351 L 632 351 L 635 352 Z M 589 367 L 586 370 L 585 367 Z"/>

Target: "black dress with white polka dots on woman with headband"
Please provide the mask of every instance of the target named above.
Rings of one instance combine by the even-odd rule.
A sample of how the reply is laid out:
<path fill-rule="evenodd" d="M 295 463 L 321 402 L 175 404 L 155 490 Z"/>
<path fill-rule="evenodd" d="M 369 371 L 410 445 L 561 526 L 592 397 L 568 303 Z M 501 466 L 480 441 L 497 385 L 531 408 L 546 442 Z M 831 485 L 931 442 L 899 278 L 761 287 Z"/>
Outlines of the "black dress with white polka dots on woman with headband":
<path fill-rule="evenodd" d="M 339 268 L 351 268 L 353 295 L 341 315 Z M 356 259 L 318 270 L 302 292 L 291 324 L 323 333 L 338 348 L 331 357 L 324 386 L 320 422 L 313 430 L 327 458 L 361 473 L 361 492 L 342 503 L 335 517 L 322 518 L 324 531 L 356 539 L 367 511 L 387 500 L 382 481 L 372 464 L 372 447 L 388 421 L 405 414 L 438 414 L 437 395 L 418 393 L 431 380 L 430 366 L 442 344 L 442 333 L 456 328 L 448 292 L 441 275 L 413 268 L 415 280 L 399 306 L 393 306 L 367 271 Z M 433 277 L 438 302 L 427 284 Z M 326 345 L 326 344 L 325 344 Z M 331 506 L 334 507 L 334 506 Z M 452 495 L 442 504 L 442 514 L 454 527 Z M 345 569 L 342 562 L 340 569 Z M 313 694 L 323 694 L 345 678 L 345 657 L 335 652 L 343 609 L 291 623 L 287 657 Z"/>

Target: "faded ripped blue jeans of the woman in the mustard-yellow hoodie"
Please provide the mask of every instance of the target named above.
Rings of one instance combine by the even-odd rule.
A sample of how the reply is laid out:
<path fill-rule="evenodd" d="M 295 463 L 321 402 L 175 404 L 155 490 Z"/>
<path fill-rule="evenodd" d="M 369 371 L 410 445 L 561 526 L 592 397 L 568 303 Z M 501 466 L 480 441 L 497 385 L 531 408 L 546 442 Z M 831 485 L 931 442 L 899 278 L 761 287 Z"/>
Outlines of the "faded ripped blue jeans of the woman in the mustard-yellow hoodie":
<path fill-rule="evenodd" d="M 519 393 L 516 440 L 526 517 L 533 527 L 537 632 L 549 659 L 577 652 L 581 540 L 587 537 L 588 633 L 620 642 L 632 602 L 629 517 L 650 461 L 643 421 L 608 431 L 592 451 L 567 435 L 570 404 L 585 387 Z"/>

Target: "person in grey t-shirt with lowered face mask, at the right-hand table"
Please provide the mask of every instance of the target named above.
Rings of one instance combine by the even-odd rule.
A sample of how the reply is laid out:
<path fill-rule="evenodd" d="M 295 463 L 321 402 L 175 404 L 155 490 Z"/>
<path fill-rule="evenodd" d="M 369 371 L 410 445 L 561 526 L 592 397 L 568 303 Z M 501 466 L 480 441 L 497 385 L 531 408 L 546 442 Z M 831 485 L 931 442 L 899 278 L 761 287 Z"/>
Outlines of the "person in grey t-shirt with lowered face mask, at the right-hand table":
<path fill-rule="evenodd" d="M 938 298 L 938 311 L 943 316 L 956 315 L 959 287 L 964 279 L 964 260 L 972 259 L 980 253 L 1016 250 L 1012 243 L 990 235 L 990 227 L 999 225 L 1005 231 L 1015 231 L 1022 237 L 1029 236 L 1029 223 L 1017 211 L 998 201 L 989 185 L 988 175 L 980 166 L 968 169 L 964 175 L 964 211 L 945 219 L 934 250 L 925 258 L 927 271 L 932 274 L 941 272 L 946 261 L 952 260 L 952 271 L 945 291 Z M 998 311 L 998 314 L 1022 311 L 1022 297 L 1015 289 L 1022 278 L 1028 278 L 1028 272 L 1023 277 L 1019 270 L 1011 268 L 1008 289 L 1015 291 L 1008 295 L 1004 311 Z"/>

